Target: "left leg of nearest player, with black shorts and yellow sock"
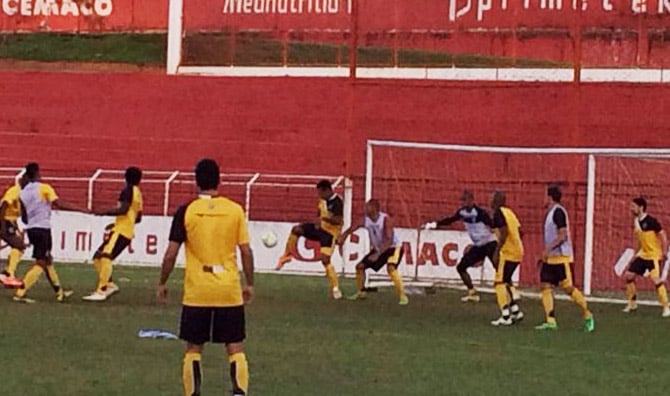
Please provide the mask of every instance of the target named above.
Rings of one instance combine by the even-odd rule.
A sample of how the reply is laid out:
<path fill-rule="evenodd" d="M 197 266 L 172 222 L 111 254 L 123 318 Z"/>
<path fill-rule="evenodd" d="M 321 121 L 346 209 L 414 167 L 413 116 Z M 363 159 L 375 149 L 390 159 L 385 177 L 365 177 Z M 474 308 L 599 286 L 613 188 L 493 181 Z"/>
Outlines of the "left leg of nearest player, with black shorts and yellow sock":
<path fill-rule="evenodd" d="M 184 396 L 200 395 L 202 385 L 202 351 L 211 341 L 212 308 L 183 306 L 179 324 L 179 338 L 186 342 L 182 364 Z"/>

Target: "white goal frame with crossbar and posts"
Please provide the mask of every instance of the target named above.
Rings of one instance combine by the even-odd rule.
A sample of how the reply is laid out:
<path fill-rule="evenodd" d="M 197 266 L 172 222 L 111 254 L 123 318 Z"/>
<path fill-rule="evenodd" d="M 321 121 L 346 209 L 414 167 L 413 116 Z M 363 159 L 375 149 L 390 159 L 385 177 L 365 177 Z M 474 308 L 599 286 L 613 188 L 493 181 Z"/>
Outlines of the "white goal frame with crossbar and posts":
<path fill-rule="evenodd" d="M 569 147 L 502 147 L 459 144 L 440 144 L 395 140 L 368 140 L 365 163 L 365 200 L 373 196 L 374 149 L 375 147 L 394 147 L 408 149 L 426 149 L 491 154 L 576 154 L 587 157 L 586 171 L 586 218 L 584 230 L 584 293 L 591 295 L 591 277 L 593 274 L 593 244 L 596 193 L 596 156 L 670 158 L 670 149 L 666 148 L 569 148 Z"/>

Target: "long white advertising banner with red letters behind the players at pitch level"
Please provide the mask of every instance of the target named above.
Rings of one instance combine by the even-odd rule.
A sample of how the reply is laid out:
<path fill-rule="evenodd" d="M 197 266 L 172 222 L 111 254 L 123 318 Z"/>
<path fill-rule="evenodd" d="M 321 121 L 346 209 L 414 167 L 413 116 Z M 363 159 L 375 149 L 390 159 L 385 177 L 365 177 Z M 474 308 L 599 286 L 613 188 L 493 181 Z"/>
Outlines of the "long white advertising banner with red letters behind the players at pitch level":
<path fill-rule="evenodd" d="M 52 218 L 53 250 L 56 262 L 90 263 L 94 252 L 100 246 L 105 234 L 105 226 L 113 218 L 96 217 L 72 212 L 56 211 Z M 117 263 L 134 266 L 159 267 L 163 252 L 168 244 L 172 219 L 164 216 L 145 216 L 137 225 L 135 238 L 130 247 L 119 256 Z M 251 246 L 254 251 L 256 270 L 274 272 L 277 260 L 284 251 L 284 243 L 294 224 L 279 222 L 249 222 Z M 266 247 L 262 236 L 272 232 L 278 243 Z M 459 279 L 456 264 L 465 250 L 471 245 L 467 233 L 462 231 L 421 231 L 397 229 L 402 243 L 402 258 L 398 267 L 406 278 L 451 281 Z M 418 249 L 417 249 L 418 246 Z M 358 230 L 341 249 L 335 249 L 332 263 L 338 273 L 353 274 L 355 266 L 369 252 L 368 237 L 365 230 Z M 3 251 L 6 256 L 7 249 Z M 25 257 L 32 254 L 28 248 Z M 178 265 L 184 264 L 184 249 L 177 259 Z M 384 271 L 384 270 L 382 270 Z M 283 273 L 323 275 L 319 246 L 316 242 L 301 238 L 296 258 L 287 264 Z M 380 275 L 385 276 L 385 272 Z M 495 271 L 487 262 L 471 269 L 476 280 L 492 281 Z M 518 276 L 518 273 L 517 273 Z"/>

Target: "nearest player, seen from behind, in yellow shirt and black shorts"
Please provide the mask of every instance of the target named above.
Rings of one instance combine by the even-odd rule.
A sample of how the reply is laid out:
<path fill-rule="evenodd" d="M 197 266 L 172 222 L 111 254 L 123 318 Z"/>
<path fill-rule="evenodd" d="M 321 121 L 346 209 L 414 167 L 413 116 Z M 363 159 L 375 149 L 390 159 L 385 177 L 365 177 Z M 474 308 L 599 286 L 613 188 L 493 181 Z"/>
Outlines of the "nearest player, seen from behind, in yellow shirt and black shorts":
<path fill-rule="evenodd" d="M 184 395 L 200 395 L 202 351 L 207 342 L 226 345 L 233 395 L 246 395 L 249 369 L 244 354 L 244 304 L 253 298 L 254 261 L 241 206 L 218 193 L 219 166 L 203 159 L 195 168 L 198 198 L 180 207 L 172 220 L 163 258 L 158 301 L 167 302 L 166 283 L 177 253 L 186 245 L 184 296 L 179 337 L 186 341 Z M 239 248 L 245 285 L 237 267 Z"/>

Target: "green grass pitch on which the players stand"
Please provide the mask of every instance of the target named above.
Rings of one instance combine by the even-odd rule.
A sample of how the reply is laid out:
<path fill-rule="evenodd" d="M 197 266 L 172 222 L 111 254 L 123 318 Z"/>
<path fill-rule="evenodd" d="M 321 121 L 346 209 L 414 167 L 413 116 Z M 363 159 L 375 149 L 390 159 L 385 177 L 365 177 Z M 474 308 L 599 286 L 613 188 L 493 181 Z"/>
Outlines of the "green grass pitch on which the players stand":
<path fill-rule="evenodd" d="M 181 273 L 171 303 L 154 303 L 157 269 L 119 268 L 122 291 L 107 303 L 79 300 L 90 266 L 60 266 L 77 295 L 59 305 L 42 280 L 34 305 L 0 299 L 3 394 L 180 395 L 182 346 L 137 338 L 140 328 L 176 331 Z M 492 296 L 463 305 L 454 291 L 396 305 L 382 290 L 367 301 L 329 301 L 321 278 L 259 275 L 248 308 L 252 395 L 661 395 L 670 321 L 657 309 L 633 316 L 594 305 L 597 330 L 581 331 L 577 308 L 558 303 L 560 329 L 538 333 L 537 300 L 527 319 L 492 328 Z M 352 290 L 345 282 L 345 291 Z M 204 395 L 226 394 L 222 349 L 204 355 Z"/>

